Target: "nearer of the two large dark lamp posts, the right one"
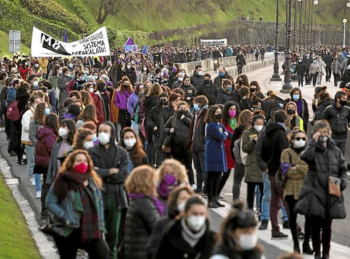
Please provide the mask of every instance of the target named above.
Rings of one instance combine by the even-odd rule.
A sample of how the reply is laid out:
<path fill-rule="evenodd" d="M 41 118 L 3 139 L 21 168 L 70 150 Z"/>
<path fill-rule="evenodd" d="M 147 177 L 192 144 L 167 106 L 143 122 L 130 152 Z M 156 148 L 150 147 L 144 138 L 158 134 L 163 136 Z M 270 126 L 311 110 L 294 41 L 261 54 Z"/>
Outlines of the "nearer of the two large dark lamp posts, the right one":
<path fill-rule="evenodd" d="M 292 38 L 292 0 L 287 0 L 286 8 L 288 8 L 288 17 L 286 17 L 286 21 L 288 21 L 288 29 L 287 29 L 287 53 L 286 53 L 286 69 L 285 69 L 285 83 L 282 86 L 280 92 L 289 93 L 292 89 L 291 84 L 291 38 Z"/>

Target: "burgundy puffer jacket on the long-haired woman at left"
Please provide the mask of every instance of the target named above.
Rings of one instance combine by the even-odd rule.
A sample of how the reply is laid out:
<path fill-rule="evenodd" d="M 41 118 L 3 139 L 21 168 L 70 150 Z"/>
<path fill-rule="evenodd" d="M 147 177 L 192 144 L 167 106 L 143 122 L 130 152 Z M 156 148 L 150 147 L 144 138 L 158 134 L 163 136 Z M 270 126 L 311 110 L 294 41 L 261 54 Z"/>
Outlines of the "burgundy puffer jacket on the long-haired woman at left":
<path fill-rule="evenodd" d="M 48 168 L 52 148 L 56 142 L 57 132 L 48 126 L 42 126 L 37 133 L 37 144 L 34 156 L 37 167 Z"/>

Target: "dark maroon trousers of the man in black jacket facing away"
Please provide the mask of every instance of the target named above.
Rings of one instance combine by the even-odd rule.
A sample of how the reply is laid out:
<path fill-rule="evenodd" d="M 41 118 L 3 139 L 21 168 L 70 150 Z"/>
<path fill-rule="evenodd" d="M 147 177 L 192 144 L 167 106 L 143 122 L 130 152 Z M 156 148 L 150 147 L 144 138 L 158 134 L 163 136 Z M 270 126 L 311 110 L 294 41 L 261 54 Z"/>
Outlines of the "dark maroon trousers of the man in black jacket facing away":
<path fill-rule="evenodd" d="M 283 188 L 278 186 L 275 180 L 274 175 L 269 175 L 268 176 L 270 180 L 270 187 L 271 187 L 271 201 L 270 201 L 270 220 L 271 220 L 271 225 L 272 225 L 272 234 L 278 233 L 279 232 L 279 226 L 278 226 L 278 220 L 277 220 L 277 215 L 279 209 L 282 208 L 282 199 L 283 199 Z M 288 205 L 285 204 L 285 208 L 287 211 L 287 214 L 289 213 L 288 211 Z"/>

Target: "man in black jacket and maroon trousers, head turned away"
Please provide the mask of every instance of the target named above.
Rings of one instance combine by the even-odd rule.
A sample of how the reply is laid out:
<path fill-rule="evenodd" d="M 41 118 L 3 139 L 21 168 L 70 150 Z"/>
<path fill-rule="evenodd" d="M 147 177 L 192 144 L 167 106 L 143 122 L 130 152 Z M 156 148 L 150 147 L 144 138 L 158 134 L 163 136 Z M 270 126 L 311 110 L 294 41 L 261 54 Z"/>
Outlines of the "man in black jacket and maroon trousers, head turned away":
<path fill-rule="evenodd" d="M 260 158 L 266 163 L 261 168 L 268 173 L 268 178 L 271 183 L 271 201 L 270 201 L 270 220 L 272 224 L 272 239 L 286 239 L 288 235 L 279 231 L 277 214 L 282 207 L 281 201 L 283 201 L 283 188 L 281 188 L 275 180 L 275 175 L 278 168 L 281 166 L 281 153 L 284 149 L 289 147 L 287 139 L 287 114 L 284 111 L 277 111 L 274 114 L 274 122 L 271 122 L 266 126 L 265 136 L 262 141 Z M 258 160 L 258 159 L 257 159 Z M 259 163 L 259 167 L 262 164 Z M 267 166 L 267 170 L 266 170 Z M 288 206 L 285 204 L 285 208 L 288 213 Z"/>

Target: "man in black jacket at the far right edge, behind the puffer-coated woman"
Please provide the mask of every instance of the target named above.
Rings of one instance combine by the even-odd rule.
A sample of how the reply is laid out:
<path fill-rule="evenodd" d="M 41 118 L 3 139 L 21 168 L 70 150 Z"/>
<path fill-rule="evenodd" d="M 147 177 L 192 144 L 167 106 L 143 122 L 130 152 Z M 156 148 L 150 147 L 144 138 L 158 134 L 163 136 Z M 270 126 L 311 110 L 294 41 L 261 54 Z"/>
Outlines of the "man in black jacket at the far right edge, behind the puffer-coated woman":
<path fill-rule="evenodd" d="M 347 124 L 350 122 L 350 108 L 347 104 L 347 96 L 344 91 L 337 91 L 334 103 L 328 106 L 323 113 L 323 119 L 328 120 L 332 129 L 332 139 L 336 146 L 345 155 Z"/>

